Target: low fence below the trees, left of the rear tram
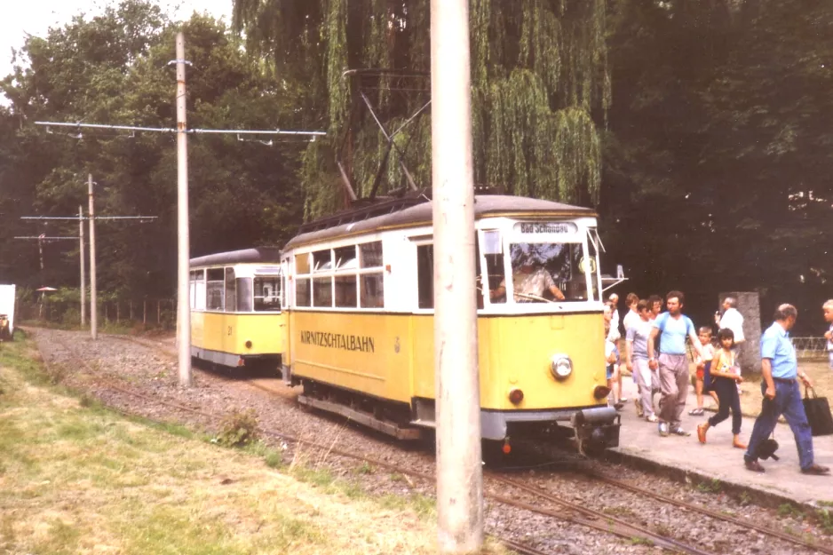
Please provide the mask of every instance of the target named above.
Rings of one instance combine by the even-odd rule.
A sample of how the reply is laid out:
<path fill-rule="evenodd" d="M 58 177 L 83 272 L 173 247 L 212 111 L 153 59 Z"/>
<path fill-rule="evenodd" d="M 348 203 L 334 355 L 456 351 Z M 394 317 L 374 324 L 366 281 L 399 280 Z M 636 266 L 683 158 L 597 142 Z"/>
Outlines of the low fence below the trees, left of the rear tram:
<path fill-rule="evenodd" d="M 177 302 L 170 298 L 105 301 L 98 303 L 99 324 L 174 329 L 177 322 Z M 89 325 L 90 314 L 87 314 Z M 36 321 L 52 325 L 76 327 L 81 325 L 81 307 L 77 302 L 48 299 L 43 303 L 18 305 L 18 321 Z"/>

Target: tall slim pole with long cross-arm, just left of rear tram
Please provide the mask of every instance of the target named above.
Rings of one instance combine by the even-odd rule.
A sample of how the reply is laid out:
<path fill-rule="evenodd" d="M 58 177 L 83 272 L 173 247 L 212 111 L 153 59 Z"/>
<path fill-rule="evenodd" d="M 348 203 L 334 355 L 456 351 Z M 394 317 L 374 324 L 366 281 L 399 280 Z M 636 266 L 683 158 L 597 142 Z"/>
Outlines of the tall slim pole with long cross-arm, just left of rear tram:
<path fill-rule="evenodd" d="M 185 36 L 177 33 L 177 346 L 179 385 L 192 385 L 191 378 L 191 302 L 188 271 L 188 135 L 186 125 Z"/>

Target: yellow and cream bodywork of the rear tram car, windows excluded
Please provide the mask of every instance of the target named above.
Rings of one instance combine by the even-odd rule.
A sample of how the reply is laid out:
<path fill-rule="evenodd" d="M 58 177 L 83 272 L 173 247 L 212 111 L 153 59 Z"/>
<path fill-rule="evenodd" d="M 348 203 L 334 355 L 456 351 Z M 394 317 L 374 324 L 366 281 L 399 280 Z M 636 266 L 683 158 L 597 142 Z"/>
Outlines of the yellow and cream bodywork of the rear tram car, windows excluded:
<path fill-rule="evenodd" d="M 222 258 L 226 253 L 212 255 Z M 195 259 L 199 260 L 199 259 Z M 281 266 L 274 263 L 210 264 L 194 265 L 191 271 L 204 272 L 214 268 L 233 268 L 235 279 L 277 277 L 282 279 Z M 203 274 L 204 279 L 204 274 Z M 203 282 L 204 283 L 204 282 Z M 191 355 L 224 366 L 241 366 L 247 360 L 274 358 L 275 368 L 286 350 L 287 315 L 275 311 L 208 310 L 205 308 L 205 288 L 202 287 L 202 303 L 195 302 L 197 294 L 192 287 L 191 304 Z"/>

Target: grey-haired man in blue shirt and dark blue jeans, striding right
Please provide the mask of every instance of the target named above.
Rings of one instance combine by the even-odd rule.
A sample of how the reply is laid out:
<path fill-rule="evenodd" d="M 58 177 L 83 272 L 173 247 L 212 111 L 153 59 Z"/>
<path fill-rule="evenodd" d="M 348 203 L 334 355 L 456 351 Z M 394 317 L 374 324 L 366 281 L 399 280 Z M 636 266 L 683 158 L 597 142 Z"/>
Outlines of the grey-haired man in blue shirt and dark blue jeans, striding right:
<path fill-rule="evenodd" d="M 764 472 L 758 463 L 758 446 L 769 437 L 783 415 L 796 436 L 798 464 L 805 474 L 828 474 L 830 469 L 813 462 L 813 434 L 801 402 L 801 389 L 797 379 L 806 387 L 813 382 L 804 372 L 798 371 L 796 349 L 789 339 L 789 330 L 796 324 L 798 312 L 793 305 L 781 305 L 775 311 L 773 325 L 761 336 L 761 392 L 764 393 L 761 414 L 752 428 L 749 448 L 743 455 L 746 468 L 752 472 Z M 797 379 L 796 379 L 797 378 Z"/>

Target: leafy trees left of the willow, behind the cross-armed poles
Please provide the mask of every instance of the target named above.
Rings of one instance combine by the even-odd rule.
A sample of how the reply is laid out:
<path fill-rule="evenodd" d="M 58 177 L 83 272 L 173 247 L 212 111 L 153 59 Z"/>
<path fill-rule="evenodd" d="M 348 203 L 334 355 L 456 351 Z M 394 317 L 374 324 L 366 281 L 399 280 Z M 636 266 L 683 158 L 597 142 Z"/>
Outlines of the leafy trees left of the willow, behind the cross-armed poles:
<path fill-rule="evenodd" d="M 77 243 L 44 245 L 13 235 L 77 235 L 77 224 L 22 223 L 24 215 L 87 210 L 87 174 L 98 215 L 156 216 L 153 223 L 99 222 L 99 289 L 133 297 L 171 295 L 176 272 L 177 149 L 172 134 L 36 127 L 36 121 L 173 128 L 174 35 L 186 34 L 188 124 L 210 129 L 292 129 L 293 94 L 268 78 L 225 25 L 196 15 L 178 24 L 143 0 L 124 0 L 91 20 L 77 18 L 30 37 L 3 82 L 0 114 L 0 274 L 34 285 L 77 284 Z M 268 139 L 261 137 L 260 139 Z M 189 138 L 194 256 L 280 244 L 301 221 L 295 168 L 303 144 L 268 147 L 235 135 Z"/>

